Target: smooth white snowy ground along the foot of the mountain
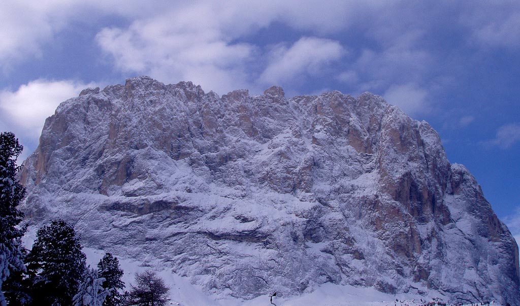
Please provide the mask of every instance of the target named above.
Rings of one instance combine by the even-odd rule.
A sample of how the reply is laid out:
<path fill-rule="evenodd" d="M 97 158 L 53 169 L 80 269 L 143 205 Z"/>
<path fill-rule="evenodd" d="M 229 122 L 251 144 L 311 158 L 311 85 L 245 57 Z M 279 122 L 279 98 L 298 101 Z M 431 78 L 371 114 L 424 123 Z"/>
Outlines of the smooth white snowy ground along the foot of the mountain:
<path fill-rule="evenodd" d="M 35 229 L 30 227 L 25 233 L 23 238 L 25 247 L 30 248 L 32 246 L 36 237 L 35 232 Z M 103 255 L 105 255 L 104 251 L 92 248 L 83 248 L 83 252 L 87 256 L 87 265 L 91 267 L 97 267 L 97 263 Z M 118 259 L 124 271 L 123 281 L 127 289 L 129 289 L 129 285 L 133 283 L 136 272 L 145 271 L 149 269 L 149 267 L 157 267 L 157 265 L 153 263 L 147 264 L 149 267 L 146 267 L 141 262 L 131 259 L 121 257 Z M 429 303 L 435 298 L 438 298 L 439 302 L 443 301 L 441 297 L 436 296 L 434 292 L 427 297 L 409 294 L 388 295 L 373 288 L 357 288 L 329 283 L 317 288 L 313 292 L 305 293 L 301 296 L 288 298 L 280 296 L 274 297 L 271 304 L 269 294 L 272 294 L 272 292 L 266 292 L 266 295 L 259 296 L 252 300 L 233 298 L 228 292 L 209 296 L 197 285 L 191 284 L 187 277 L 174 274 L 168 270 L 152 270 L 157 272 L 166 282 L 166 285 L 170 287 L 170 304 L 178 306 L 269 306 L 273 304 L 275 306 L 421 306 L 433 305 Z M 464 305 L 470 306 L 472 304 Z M 480 303 L 477 305 L 480 305 Z M 503 306 L 495 302 L 486 305 Z"/>

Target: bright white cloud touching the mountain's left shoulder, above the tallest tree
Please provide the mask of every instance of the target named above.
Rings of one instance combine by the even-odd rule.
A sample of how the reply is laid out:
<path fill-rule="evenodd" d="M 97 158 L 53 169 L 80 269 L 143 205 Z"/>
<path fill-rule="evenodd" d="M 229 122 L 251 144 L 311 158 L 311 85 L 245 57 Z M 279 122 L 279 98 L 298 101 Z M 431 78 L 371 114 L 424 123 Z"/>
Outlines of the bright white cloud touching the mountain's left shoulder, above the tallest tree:
<path fill-rule="evenodd" d="M 0 91 L 0 122 L 30 151 L 40 138 L 45 119 L 54 114 L 59 103 L 79 95 L 80 91 L 93 84 L 73 81 L 47 81 L 37 79 L 20 86 L 15 91 Z M 28 150 L 24 150 L 27 154 Z"/>

